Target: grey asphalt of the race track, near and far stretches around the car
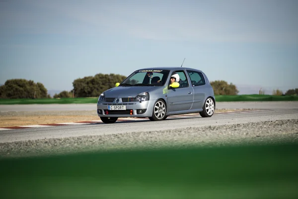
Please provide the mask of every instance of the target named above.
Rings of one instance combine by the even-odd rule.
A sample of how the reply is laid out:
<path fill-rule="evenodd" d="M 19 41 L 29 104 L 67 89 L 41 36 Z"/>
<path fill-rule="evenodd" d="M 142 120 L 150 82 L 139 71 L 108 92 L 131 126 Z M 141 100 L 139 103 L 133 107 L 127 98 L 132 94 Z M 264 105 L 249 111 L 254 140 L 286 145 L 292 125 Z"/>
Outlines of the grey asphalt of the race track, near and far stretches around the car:
<path fill-rule="evenodd" d="M 94 104 L 33 104 L 33 105 L 2 105 L 1 111 L 17 110 L 90 110 Z M 218 102 L 217 108 L 253 108 L 258 111 L 238 114 L 213 115 L 211 118 L 201 116 L 174 117 L 164 121 L 151 122 L 149 119 L 141 121 L 117 121 L 114 124 L 68 125 L 30 129 L 13 129 L 0 131 L 0 143 L 37 140 L 48 138 L 66 138 L 77 136 L 93 136 L 119 134 L 127 132 L 146 132 L 175 130 L 187 127 L 203 127 L 241 124 L 248 122 L 275 121 L 298 119 L 298 101 L 290 102 Z"/>

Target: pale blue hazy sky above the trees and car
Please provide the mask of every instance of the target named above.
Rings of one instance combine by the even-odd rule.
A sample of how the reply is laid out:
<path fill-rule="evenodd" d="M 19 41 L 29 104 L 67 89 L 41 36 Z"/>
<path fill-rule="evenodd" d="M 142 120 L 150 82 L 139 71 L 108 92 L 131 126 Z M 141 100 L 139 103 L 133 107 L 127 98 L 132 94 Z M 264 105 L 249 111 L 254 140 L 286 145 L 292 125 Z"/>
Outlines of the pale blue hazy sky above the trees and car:
<path fill-rule="evenodd" d="M 0 0 L 0 84 L 202 70 L 239 94 L 298 88 L 297 0 Z"/>

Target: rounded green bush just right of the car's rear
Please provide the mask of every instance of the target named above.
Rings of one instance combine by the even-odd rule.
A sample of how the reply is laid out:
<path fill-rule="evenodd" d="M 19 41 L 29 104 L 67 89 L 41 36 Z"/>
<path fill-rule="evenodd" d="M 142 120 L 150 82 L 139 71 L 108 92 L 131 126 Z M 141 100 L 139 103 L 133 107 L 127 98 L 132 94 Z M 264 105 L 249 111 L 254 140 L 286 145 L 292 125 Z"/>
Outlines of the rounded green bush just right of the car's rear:
<path fill-rule="evenodd" d="M 215 95 L 237 95 L 239 91 L 232 83 L 228 84 L 223 80 L 210 82 Z"/>

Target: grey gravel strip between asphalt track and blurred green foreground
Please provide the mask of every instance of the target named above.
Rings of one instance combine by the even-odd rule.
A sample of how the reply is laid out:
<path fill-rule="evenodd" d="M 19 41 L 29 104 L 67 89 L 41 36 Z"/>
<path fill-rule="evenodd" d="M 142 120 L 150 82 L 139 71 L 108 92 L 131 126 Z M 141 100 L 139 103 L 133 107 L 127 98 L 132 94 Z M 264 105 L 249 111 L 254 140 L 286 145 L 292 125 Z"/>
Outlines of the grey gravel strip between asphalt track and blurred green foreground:
<path fill-rule="evenodd" d="M 298 119 L 0 143 L 0 157 L 298 142 Z"/>

